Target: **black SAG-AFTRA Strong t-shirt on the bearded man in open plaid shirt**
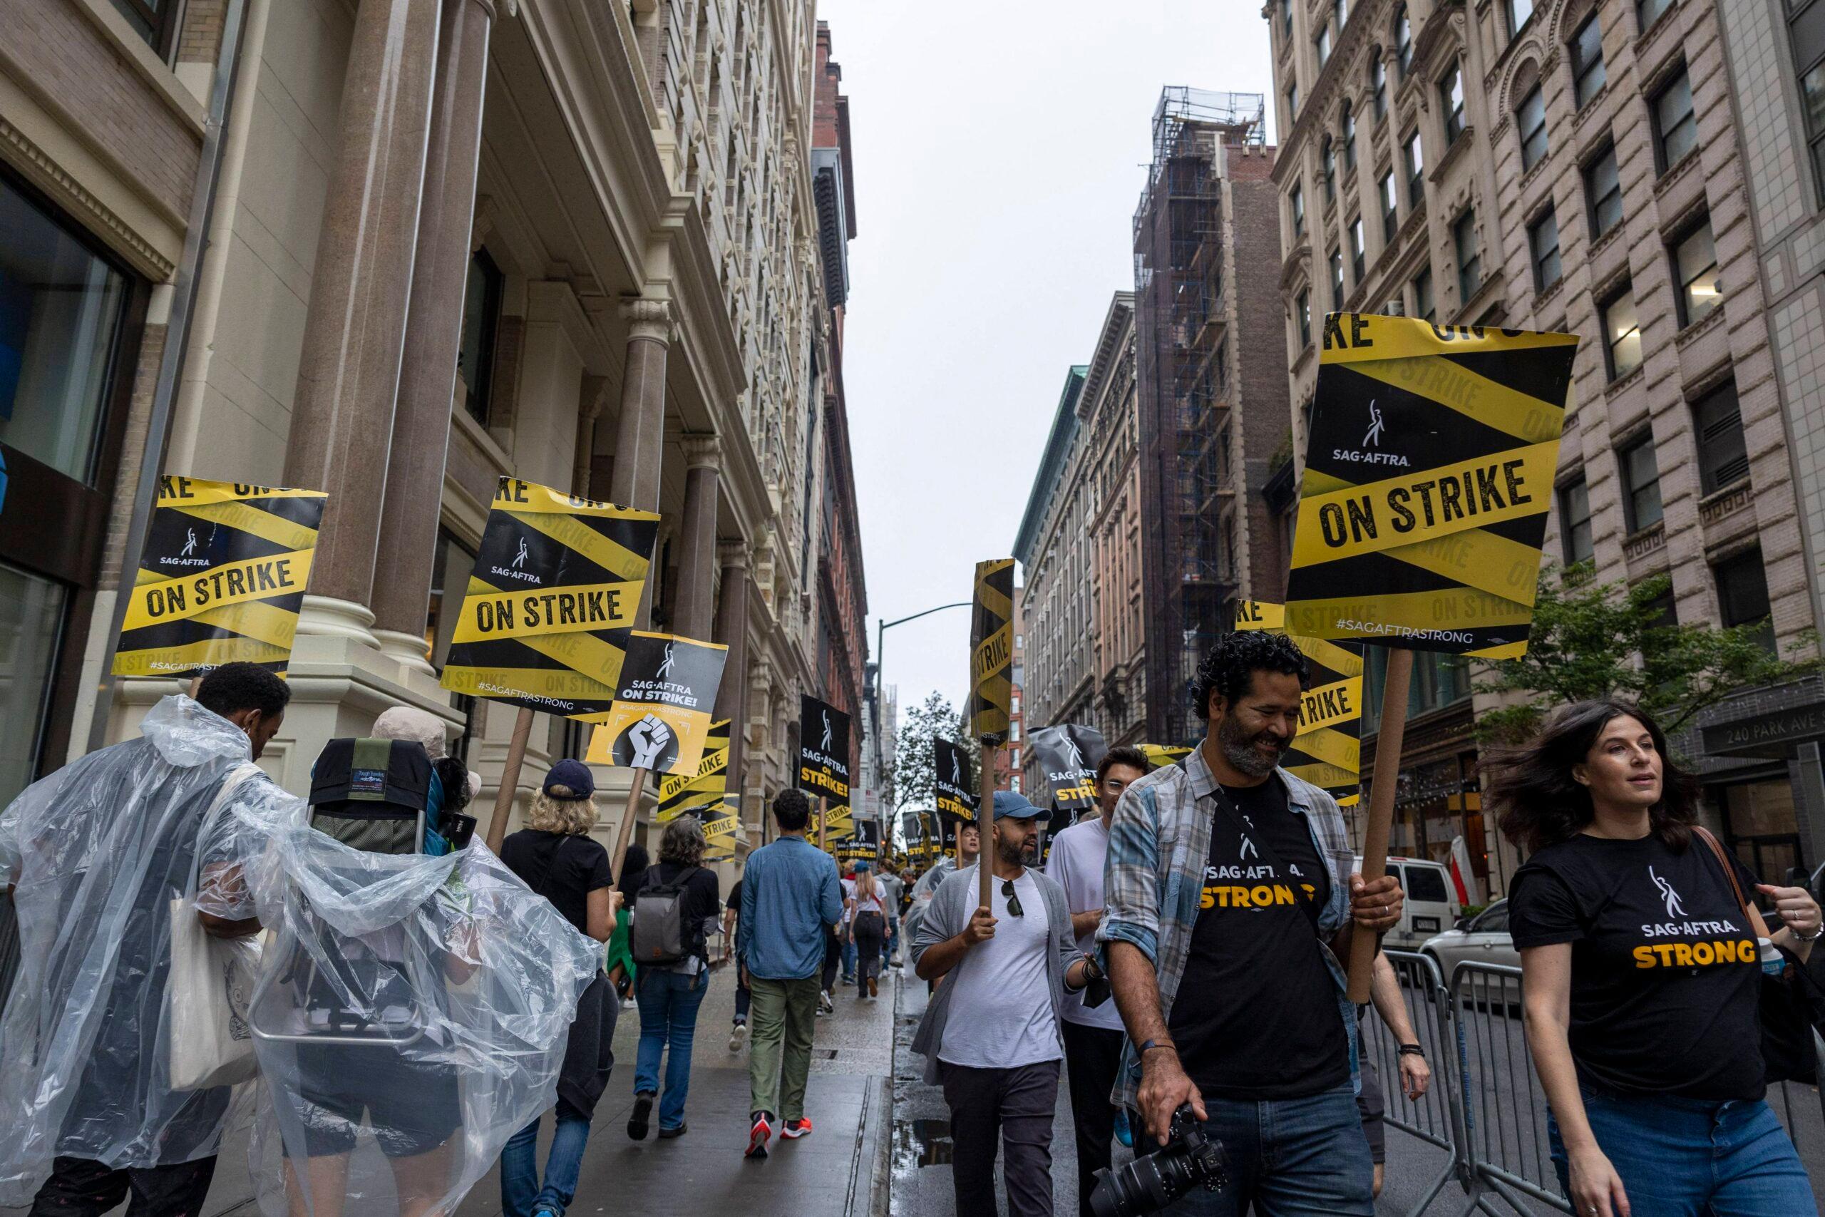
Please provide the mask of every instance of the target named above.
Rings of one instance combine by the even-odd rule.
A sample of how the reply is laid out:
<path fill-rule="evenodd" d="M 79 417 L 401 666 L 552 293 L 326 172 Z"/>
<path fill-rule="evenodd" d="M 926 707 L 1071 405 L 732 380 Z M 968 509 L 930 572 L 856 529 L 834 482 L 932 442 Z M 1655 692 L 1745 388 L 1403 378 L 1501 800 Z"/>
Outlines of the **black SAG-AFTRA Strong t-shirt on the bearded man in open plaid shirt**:
<path fill-rule="evenodd" d="M 1338 983 L 1318 945 L 1330 898 L 1303 816 L 1278 777 L 1204 801 L 1210 861 L 1192 951 L 1166 1022 L 1197 1089 L 1219 1098 L 1303 1098 L 1350 1080 Z"/>

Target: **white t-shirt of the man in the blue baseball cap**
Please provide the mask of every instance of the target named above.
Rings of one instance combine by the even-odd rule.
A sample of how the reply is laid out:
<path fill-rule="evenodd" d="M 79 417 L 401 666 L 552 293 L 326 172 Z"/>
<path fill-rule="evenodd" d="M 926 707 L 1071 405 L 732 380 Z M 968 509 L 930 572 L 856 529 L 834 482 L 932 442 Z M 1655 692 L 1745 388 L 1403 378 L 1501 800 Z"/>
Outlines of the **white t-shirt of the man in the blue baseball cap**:
<path fill-rule="evenodd" d="M 969 869 L 975 883 L 975 867 Z M 1031 870 L 1015 879 L 1020 916 L 1007 914 L 1002 879 L 991 885 L 995 938 L 978 941 L 944 983 L 951 1014 L 944 1024 L 938 1060 L 973 1069 L 1017 1069 L 1042 1060 L 1060 1060 L 1064 1044 L 1051 1014 L 1051 978 L 1046 952 L 1051 934 L 1046 896 Z"/>

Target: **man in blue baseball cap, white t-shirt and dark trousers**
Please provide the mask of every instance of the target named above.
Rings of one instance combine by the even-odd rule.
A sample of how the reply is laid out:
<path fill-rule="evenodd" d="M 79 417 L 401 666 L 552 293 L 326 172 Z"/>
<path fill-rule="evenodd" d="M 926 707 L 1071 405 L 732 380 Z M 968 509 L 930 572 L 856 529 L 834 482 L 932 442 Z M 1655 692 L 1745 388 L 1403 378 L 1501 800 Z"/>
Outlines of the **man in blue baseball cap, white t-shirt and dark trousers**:
<path fill-rule="evenodd" d="M 925 1082 L 944 1084 L 956 1146 L 958 1217 L 995 1212 L 995 1142 L 1009 1217 L 1051 1217 L 1051 1124 L 1058 1106 L 1064 994 L 1100 973 L 1077 949 L 1064 889 L 1027 869 L 1049 812 L 1013 790 L 995 792 L 991 905 L 978 907 L 976 867 L 938 885 L 912 934 L 922 980 L 944 978 L 912 1051 Z"/>

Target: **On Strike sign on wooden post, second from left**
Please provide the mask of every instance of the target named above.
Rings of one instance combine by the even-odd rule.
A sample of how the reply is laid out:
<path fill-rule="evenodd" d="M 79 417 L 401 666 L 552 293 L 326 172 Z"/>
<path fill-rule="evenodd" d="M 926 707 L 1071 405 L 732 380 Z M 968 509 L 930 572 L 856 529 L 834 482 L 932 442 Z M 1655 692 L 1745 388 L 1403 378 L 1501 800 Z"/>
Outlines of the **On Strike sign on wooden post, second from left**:
<path fill-rule="evenodd" d="M 533 712 L 589 719 L 615 701 L 659 516 L 502 478 L 482 529 L 443 688 L 520 708 L 487 847 L 500 852 Z"/>

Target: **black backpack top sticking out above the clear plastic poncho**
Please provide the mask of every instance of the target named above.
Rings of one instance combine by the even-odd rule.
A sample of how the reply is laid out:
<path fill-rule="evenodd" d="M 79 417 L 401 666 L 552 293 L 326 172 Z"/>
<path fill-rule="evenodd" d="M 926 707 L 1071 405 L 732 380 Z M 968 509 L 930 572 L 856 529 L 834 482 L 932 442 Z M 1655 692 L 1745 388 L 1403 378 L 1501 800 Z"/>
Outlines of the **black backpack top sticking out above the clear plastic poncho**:
<path fill-rule="evenodd" d="M 431 757 L 423 744 L 411 739 L 323 744 L 310 772 L 312 828 L 369 854 L 442 854 L 427 848 L 429 819 Z"/>

